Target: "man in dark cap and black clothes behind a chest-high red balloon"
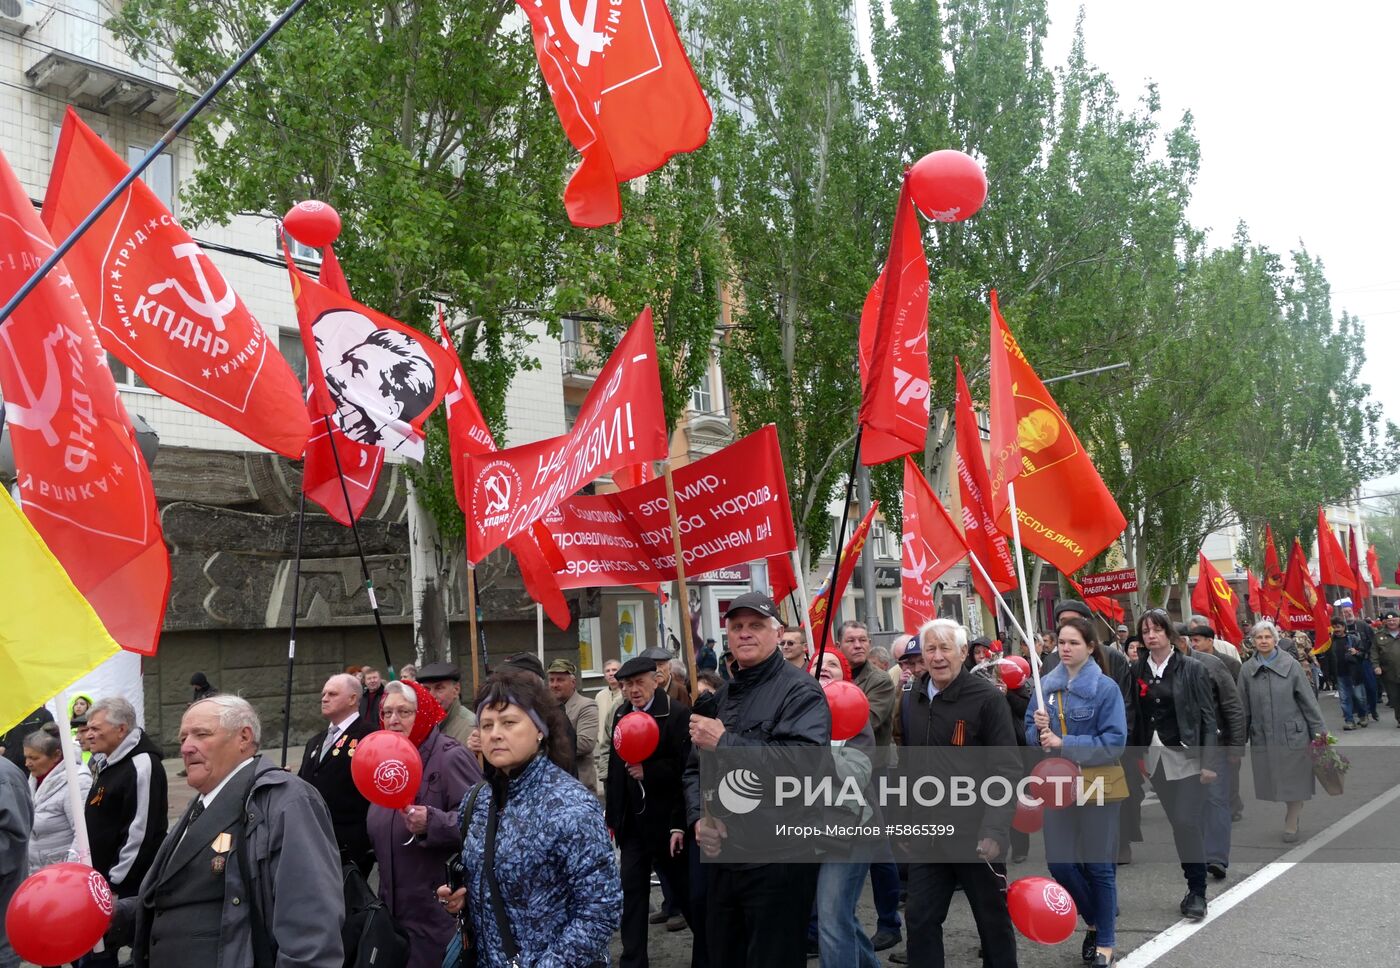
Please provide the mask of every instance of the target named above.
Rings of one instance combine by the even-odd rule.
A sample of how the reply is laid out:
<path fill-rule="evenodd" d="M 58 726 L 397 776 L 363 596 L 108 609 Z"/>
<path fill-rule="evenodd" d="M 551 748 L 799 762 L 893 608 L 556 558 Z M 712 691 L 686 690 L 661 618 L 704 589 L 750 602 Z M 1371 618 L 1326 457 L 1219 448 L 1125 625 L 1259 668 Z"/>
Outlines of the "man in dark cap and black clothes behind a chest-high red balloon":
<path fill-rule="evenodd" d="M 657 664 L 643 656 L 617 671 L 623 702 L 613 710 L 608 735 L 623 716 L 641 712 L 657 720 L 659 741 L 640 763 L 626 763 L 608 749 L 608 829 L 622 850 L 622 967 L 647 965 L 647 915 L 651 869 L 671 884 L 672 902 L 690 922 L 690 867 L 686 859 L 686 800 L 680 786 L 690 756 L 690 710 L 659 686 Z M 692 925 L 692 930 L 696 926 Z"/>

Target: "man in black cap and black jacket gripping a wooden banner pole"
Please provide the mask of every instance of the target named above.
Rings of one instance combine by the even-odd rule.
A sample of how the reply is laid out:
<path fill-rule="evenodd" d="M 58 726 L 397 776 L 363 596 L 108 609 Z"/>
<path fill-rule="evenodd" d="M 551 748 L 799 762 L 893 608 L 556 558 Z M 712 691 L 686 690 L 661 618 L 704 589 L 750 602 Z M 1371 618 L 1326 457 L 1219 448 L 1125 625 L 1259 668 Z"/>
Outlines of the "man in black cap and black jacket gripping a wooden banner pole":
<path fill-rule="evenodd" d="M 816 679 L 778 651 L 777 605 L 750 591 L 724 615 L 734 678 L 717 693 L 717 717 L 690 716 L 686 820 L 707 857 L 720 855 L 724 821 L 707 817 L 697 751 L 718 747 L 825 747 L 832 713 Z M 710 960 L 725 968 L 801 968 L 816 897 L 818 864 L 724 863 L 708 866 L 706 932 Z"/>

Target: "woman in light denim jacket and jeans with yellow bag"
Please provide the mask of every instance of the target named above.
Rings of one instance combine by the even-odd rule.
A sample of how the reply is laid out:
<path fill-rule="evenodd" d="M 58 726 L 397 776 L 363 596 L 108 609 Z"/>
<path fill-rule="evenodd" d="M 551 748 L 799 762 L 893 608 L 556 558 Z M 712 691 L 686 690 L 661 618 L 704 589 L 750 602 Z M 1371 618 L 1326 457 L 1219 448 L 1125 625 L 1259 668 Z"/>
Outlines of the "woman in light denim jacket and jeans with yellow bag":
<path fill-rule="evenodd" d="M 1093 625 L 1065 618 L 1058 654 L 1060 664 L 1042 679 L 1049 710 L 1033 696 L 1026 709 L 1026 742 L 1079 768 L 1117 765 L 1127 742 L 1127 714 L 1123 693 L 1106 674 Z M 1112 965 L 1116 943 L 1119 804 L 1112 800 L 1113 787 L 1106 782 L 1103 798 L 1091 793 L 1082 803 L 1044 811 L 1050 876 L 1070 892 L 1089 927 L 1081 954 L 1092 965 Z"/>

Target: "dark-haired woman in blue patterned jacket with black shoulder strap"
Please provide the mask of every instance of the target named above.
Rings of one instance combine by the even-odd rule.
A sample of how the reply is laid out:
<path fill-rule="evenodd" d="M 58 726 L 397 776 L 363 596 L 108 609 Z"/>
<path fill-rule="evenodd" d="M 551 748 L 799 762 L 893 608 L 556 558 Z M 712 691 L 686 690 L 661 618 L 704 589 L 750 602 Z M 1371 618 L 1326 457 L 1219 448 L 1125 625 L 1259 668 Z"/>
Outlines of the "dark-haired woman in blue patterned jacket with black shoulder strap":
<path fill-rule="evenodd" d="M 489 784 L 462 817 L 466 887 L 438 888 L 470 919 L 463 964 L 606 965 L 622 880 L 598 797 L 560 766 L 573 749 L 559 703 L 539 677 L 507 668 L 482 684 L 476 717 Z"/>

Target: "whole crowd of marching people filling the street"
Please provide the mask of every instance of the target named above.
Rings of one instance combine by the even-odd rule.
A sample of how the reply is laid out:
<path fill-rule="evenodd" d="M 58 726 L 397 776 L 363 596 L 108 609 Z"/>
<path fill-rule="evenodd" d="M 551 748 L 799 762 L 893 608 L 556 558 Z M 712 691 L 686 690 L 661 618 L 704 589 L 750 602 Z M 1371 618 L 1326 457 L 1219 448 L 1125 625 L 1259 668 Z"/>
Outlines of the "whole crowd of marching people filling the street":
<path fill-rule="evenodd" d="M 573 663 L 546 668 L 529 653 L 491 671 L 469 702 L 445 663 L 398 679 L 372 668 L 332 675 L 321 693 L 326 726 L 295 773 L 260 755 L 258 712 L 197 674 L 179 727 L 182 775 L 196 796 L 172 824 L 160 748 L 132 703 L 80 696 L 74 775 L 92 866 L 116 915 L 104 950 L 77 964 L 116 965 L 129 946 L 136 965 L 342 965 L 356 944 L 344 901 L 353 867 L 377 871 L 413 968 L 437 968 L 449 951 L 459 954 L 448 964 L 455 957 L 463 968 L 601 965 L 619 932 L 622 965 L 641 968 L 661 925 L 690 932 L 693 968 L 808 958 L 872 968 L 878 951 L 902 943 L 896 964 L 942 965 L 956 891 L 976 919 L 983 964 L 1008 968 L 1016 934 L 1007 864 L 1030 846 L 1014 829 L 1015 804 L 959 808 L 965 855 L 952 860 L 736 863 L 722 856 L 727 821 L 701 789 L 700 758 L 720 748 L 825 747 L 839 773 L 868 783 L 872 770 L 895 769 L 900 748 L 986 747 L 1001 775 L 1053 755 L 1102 779 L 1096 800 L 1044 811 L 1042 838 L 1050 874 L 1084 922 L 1084 962 L 1109 965 L 1117 869 L 1141 841 L 1148 790 L 1180 862 L 1180 913 L 1201 919 L 1210 881 L 1229 876 L 1246 749 L 1256 797 L 1284 805 L 1281 839 L 1294 842 L 1315 789 L 1305 747 L 1326 731 L 1319 696 L 1336 689 L 1345 728 L 1359 728 L 1379 723 L 1379 686 L 1393 706 L 1400 693 L 1400 616 L 1387 612 L 1378 632 L 1350 604 L 1317 654 L 1268 621 L 1249 630 L 1242 654 L 1204 616 L 1183 625 L 1152 609 L 1135 629 L 1100 639 L 1082 602 L 1060 602 L 1056 629 L 1036 643 L 1043 705 L 1029 681 L 1008 688 L 997 674 L 998 643 L 969 639 L 952 619 L 888 649 L 844 622 L 820 658 L 763 594 L 736 598 L 725 621 L 724 653 L 713 643 L 699 653 L 694 695 L 664 649 L 606 663 L 596 698 L 581 692 Z M 832 738 L 823 693 L 833 681 L 853 682 L 869 707 L 844 741 Z M 626 762 L 612 737 L 637 713 L 655 721 L 658 742 Z M 13 762 L 13 740 L 0 761 L 0 901 L 22 880 L 17 871 L 76 856 L 64 744 L 45 719 L 24 724 L 28 776 Z M 351 776 L 358 744 L 381 728 L 406 737 L 423 761 L 417 796 L 399 810 L 370 803 Z M 869 933 L 857 915 L 867 881 Z M 13 953 L 0 950 L 0 967 L 8 964 Z"/>

